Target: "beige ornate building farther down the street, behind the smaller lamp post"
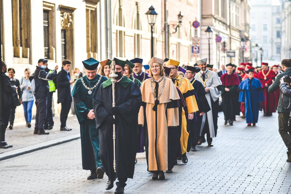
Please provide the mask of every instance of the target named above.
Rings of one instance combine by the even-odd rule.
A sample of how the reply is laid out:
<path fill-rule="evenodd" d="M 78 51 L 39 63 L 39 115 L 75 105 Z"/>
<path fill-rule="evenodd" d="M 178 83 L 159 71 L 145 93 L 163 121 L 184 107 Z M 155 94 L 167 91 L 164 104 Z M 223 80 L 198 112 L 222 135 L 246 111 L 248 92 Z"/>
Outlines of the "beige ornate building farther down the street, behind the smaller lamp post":
<path fill-rule="evenodd" d="M 209 58 L 208 39 L 205 30 L 210 26 L 214 32 L 210 37 L 210 64 L 239 64 L 250 60 L 249 12 L 247 0 L 203 0 L 202 1 L 202 58 Z M 221 42 L 216 37 L 222 38 Z M 246 41 L 242 42 L 244 38 Z M 244 57 L 242 56 L 244 49 Z M 233 57 L 229 57 L 232 54 Z"/>

